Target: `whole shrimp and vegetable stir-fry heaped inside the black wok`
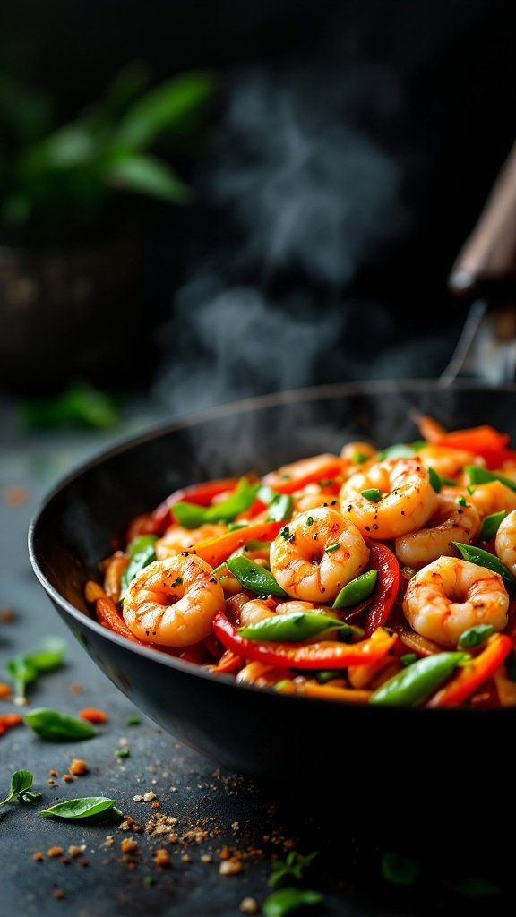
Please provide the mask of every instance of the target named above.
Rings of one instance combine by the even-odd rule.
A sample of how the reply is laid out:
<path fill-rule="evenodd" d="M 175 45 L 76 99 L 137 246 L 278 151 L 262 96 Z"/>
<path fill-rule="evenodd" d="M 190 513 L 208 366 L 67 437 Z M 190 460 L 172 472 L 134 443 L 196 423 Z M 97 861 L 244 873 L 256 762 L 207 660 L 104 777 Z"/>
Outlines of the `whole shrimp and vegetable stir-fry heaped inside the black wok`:
<path fill-rule="evenodd" d="M 174 492 L 86 583 L 97 621 L 267 690 L 516 706 L 516 450 L 418 433 Z"/>

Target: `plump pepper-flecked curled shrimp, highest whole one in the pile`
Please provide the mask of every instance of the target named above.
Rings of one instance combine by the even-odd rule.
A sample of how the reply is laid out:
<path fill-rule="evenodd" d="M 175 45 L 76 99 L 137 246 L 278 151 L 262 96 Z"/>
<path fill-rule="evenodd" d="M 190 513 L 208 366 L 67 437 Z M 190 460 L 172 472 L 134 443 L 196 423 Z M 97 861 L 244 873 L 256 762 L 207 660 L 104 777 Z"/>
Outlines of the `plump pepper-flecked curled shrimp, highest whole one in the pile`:
<path fill-rule="evenodd" d="M 375 503 L 363 496 L 377 490 Z M 437 494 L 419 458 L 386 458 L 344 481 L 341 513 L 370 538 L 395 538 L 421 528 L 437 509 Z"/>

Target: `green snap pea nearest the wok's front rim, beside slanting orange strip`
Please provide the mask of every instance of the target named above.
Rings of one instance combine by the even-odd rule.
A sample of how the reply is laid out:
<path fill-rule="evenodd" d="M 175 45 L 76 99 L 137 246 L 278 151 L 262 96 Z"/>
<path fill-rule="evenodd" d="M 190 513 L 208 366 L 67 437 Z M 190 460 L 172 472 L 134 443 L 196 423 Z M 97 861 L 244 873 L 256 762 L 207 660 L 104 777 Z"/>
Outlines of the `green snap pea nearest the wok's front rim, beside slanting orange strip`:
<path fill-rule="evenodd" d="M 449 678 L 454 668 L 467 658 L 467 653 L 445 652 L 418 659 L 380 685 L 371 694 L 369 703 L 416 707 L 424 703 Z"/>

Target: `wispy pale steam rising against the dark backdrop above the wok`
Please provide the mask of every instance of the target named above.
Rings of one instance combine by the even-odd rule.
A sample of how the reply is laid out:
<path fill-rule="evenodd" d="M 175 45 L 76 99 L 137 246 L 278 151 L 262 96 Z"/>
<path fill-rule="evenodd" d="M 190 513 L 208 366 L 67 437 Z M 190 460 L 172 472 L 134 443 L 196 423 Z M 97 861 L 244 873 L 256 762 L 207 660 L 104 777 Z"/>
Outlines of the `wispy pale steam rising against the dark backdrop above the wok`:
<path fill-rule="evenodd" d="M 396 316 L 353 293 L 406 238 L 421 168 L 412 147 L 374 139 L 403 107 L 382 68 L 234 74 L 198 179 L 208 238 L 158 333 L 154 393 L 174 414 L 397 374 Z"/>

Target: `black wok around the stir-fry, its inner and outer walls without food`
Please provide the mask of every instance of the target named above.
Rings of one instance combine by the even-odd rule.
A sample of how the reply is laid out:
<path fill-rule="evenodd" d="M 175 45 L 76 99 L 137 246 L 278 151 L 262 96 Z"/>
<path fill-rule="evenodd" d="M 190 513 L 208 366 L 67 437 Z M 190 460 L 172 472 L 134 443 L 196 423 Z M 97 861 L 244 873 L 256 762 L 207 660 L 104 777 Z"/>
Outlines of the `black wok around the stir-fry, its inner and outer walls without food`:
<path fill-rule="evenodd" d="M 516 711 L 417 710 L 338 702 L 236 686 L 195 665 L 141 648 L 92 620 L 86 580 L 129 520 L 195 481 L 258 474 L 347 439 L 378 447 L 414 439 L 413 412 L 446 427 L 489 423 L 516 443 L 516 386 L 376 381 L 284 392 L 212 408 L 152 429 L 88 462 L 50 493 L 29 530 L 29 554 L 43 589 L 73 635 L 132 702 L 171 735 L 222 766 L 256 778 L 308 779 L 412 766 L 490 773 L 507 754 Z M 417 749 L 417 752 L 415 751 Z"/>

